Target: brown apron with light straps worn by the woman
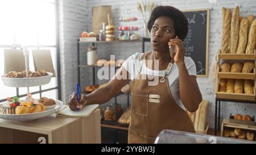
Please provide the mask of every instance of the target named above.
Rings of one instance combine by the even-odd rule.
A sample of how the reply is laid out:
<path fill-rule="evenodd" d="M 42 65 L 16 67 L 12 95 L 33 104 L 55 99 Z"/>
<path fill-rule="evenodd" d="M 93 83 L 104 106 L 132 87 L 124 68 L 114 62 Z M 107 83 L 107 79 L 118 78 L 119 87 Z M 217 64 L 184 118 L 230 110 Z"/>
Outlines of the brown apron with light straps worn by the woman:
<path fill-rule="evenodd" d="M 144 57 L 146 53 L 141 58 L 138 77 L 130 83 L 133 104 L 128 143 L 154 143 L 163 129 L 195 132 L 188 114 L 172 98 L 168 83 L 172 63 L 168 65 L 164 77 L 155 77 L 159 78 L 158 85 L 148 86 L 148 82 L 153 81 L 152 77 L 140 74 Z"/>

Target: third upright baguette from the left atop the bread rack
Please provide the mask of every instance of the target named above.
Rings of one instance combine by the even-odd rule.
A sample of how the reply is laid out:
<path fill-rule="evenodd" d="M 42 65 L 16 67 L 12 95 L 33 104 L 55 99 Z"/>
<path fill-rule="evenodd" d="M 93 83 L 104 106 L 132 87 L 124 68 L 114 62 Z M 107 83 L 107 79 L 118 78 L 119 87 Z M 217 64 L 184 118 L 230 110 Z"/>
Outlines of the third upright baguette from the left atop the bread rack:
<path fill-rule="evenodd" d="M 245 48 L 247 44 L 247 35 L 248 35 L 248 32 L 247 32 L 248 24 L 249 24 L 249 21 L 246 18 L 241 19 L 237 53 L 245 53 Z"/>

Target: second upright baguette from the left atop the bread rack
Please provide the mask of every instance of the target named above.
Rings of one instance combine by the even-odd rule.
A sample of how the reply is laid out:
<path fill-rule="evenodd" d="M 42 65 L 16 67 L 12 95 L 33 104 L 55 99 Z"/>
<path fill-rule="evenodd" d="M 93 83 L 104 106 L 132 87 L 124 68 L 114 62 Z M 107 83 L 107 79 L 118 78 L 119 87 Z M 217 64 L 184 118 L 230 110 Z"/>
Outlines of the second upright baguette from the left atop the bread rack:
<path fill-rule="evenodd" d="M 237 52 L 237 45 L 239 39 L 239 7 L 237 6 L 232 14 L 231 27 L 230 27 L 230 53 Z"/>

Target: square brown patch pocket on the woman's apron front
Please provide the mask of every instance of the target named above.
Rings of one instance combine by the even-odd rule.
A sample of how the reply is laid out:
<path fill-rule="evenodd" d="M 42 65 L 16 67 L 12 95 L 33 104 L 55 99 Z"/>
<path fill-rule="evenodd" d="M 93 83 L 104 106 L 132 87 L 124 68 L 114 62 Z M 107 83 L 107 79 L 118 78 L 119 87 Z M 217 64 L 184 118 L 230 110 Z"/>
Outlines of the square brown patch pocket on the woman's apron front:
<path fill-rule="evenodd" d="M 131 93 L 132 110 L 141 116 L 148 116 L 148 95 Z"/>

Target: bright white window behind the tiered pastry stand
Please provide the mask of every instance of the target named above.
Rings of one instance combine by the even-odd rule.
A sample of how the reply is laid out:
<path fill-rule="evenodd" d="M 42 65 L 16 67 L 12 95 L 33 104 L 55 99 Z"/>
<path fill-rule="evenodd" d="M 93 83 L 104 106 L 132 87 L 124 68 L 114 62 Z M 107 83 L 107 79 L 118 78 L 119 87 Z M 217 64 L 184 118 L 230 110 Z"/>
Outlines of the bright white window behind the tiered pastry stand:
<path fill-rule="evenodd" d="M 0 1 L 0 75 L 4 74 L 4 49 L 20 49 L 21 45 L 30 48 L 30 70 L 34 70 L 32 49 L 51 51 L 56 77 L 44 86 L 30 87 L 33 97 L 51 97 L 57 99 L 60 92 L 57 84 L 58 55 L 56 37 L 56 2 L 55 0 L 2 0 Z M 14 58 L 15 60 L 15 58 Z M 15 61 L 14 61 L 15 63 Z M 3 85 L 0 81 L 0 102 L 7 97 L 26 97 L 27 88 L 14 88 Z M 49 96 L 48 96 L 49 95 Z"/>

